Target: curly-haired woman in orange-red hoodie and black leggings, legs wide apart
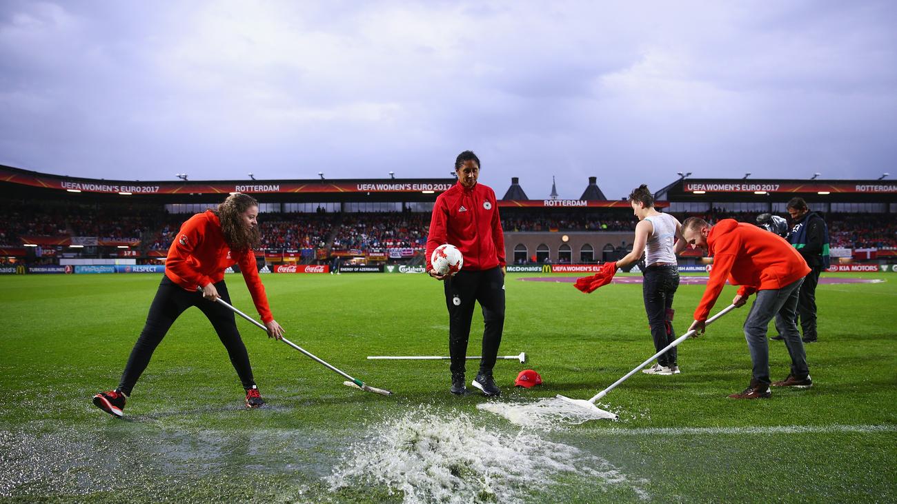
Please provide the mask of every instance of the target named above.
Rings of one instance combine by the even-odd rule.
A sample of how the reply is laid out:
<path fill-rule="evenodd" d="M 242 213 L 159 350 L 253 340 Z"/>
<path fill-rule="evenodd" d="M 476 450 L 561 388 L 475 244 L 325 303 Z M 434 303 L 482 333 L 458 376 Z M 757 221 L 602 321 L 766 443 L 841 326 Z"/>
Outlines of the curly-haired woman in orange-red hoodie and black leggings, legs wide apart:
<path fill-rule="evenodd" d="M 113 416 L 123 416 L 126 399 L 150 363 L 152 352 L 175 319 L 193 306 L 208 317 L 224 343 L 231 364 L 246 389 L 246 407 L 257 408 L 265 404 L 252 377 L 249 356 L 239 337 L 233 312 L 214 302 L 218 298 L 231 302 L 224 284 L 224 270 L 238 264 L 269 337 L 283 337 L 283 328 L 274 321 L 265 286 L 258 278 L 253 252 L 258 246 L 257 215 L 256 199 L 237 193 L 228 196 L 216 210 L 197 213 L 184 222 L 178 238 L 169 248 L 165 276 L 152 300 L 146 325 L 131 351 L 121 381 L 115 390 L 94 395 L 93 404 Z"/>

